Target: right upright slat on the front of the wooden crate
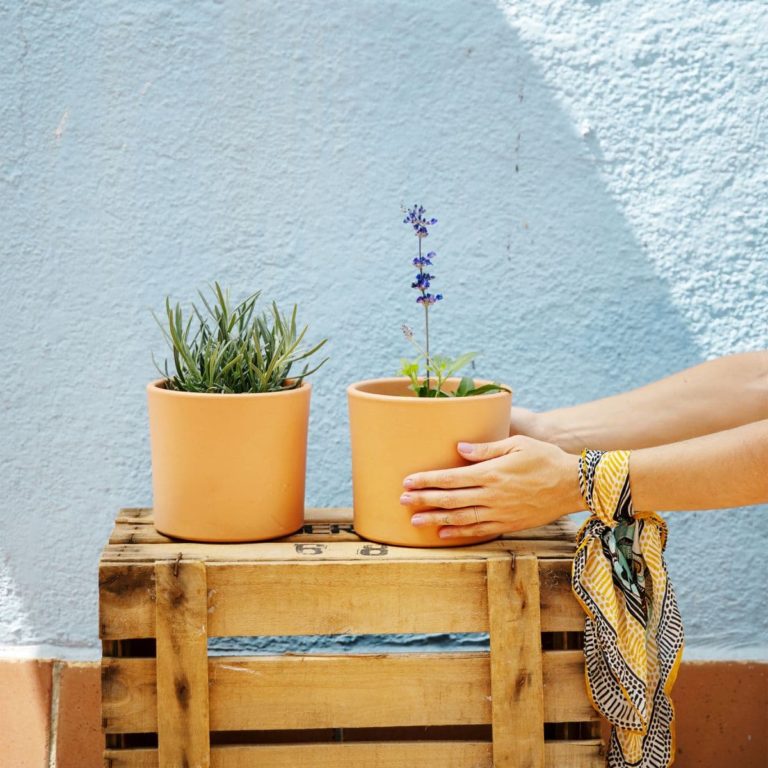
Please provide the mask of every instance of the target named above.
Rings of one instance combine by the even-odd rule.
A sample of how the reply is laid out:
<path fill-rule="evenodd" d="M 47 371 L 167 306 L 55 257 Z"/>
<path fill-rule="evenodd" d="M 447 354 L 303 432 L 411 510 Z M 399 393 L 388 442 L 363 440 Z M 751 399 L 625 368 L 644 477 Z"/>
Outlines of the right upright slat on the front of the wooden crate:
<path fill-rule="evenodd" d="M 494 768 L 544 767 L 544 693 L 535 556 L 488 561 Z M 556 695 L 562 695 L 559 688 Z"/>

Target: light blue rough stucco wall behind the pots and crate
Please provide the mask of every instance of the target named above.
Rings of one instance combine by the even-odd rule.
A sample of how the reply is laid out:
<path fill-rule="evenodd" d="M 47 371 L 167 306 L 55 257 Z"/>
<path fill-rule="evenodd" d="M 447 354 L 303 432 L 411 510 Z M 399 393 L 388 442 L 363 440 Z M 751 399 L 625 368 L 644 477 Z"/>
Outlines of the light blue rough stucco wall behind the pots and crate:
<path fill-rule="evenodd" d="M 440 220 L 433 348 L 521 405 L 768 347 L 766 103 L 759 1 L 0 0 L 0 645 L 98 656 L 166 294 L 329 337 L 310 506 L 419 323 L 401 204 Z M 766 511 L 667 515 L 687 658 L 768 658 Z"/>

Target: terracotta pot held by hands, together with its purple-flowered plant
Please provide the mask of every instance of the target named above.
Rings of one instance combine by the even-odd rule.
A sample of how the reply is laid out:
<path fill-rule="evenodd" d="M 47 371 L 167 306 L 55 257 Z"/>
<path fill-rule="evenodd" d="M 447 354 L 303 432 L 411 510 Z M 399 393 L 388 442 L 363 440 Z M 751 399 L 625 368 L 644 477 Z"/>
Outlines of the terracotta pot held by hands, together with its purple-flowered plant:
<path fill-rule="evenodd" d="M 429 312 L 443 296 L 429 292 L 434 275 L 427 268 L 436 254 L 424 255 L 422 244 L 437 220 L 427 219 L 421 206 L 406 213 L 404 221 L 413 227 L 419 244 L 419 255 L 412 262 L 419 271 L 411 287 L 418 291 L 416 301 L 424 310 L 425 346 L 422 348 L 413 331 L 403 326 L 418 355 L 402 361 L 402 376 L 357 382 L 347 390 L 354 526 L 361 536 L 385 544 L 477 544 L 495 536 L 441 539 L 436 528 L 412 525 L 412 510 L 400 503 L 403 480 L 408 475 L 469 464 L 457 451 L 459 442 L 508 437 L 512 405 L 507 387 L 458 375 L 474 354 L 456 359 L 431 354 Z"/>

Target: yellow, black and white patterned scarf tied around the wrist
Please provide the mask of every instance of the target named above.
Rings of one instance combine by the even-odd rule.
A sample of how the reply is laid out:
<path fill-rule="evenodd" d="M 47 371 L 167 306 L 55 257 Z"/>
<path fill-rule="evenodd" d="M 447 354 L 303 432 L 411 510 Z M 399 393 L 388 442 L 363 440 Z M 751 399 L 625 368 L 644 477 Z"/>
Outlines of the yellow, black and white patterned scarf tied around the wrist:
<path fill-rule="evenodd" d="M 587 690 L 612 726 L 607 765 L 668 768 L 683 625 L 662 554 L 667 526 L 634 511 L 629 451 L 585 450 L 579 486 L 592 517 L 578 534 L 572 587 L 587 613 Z"/>

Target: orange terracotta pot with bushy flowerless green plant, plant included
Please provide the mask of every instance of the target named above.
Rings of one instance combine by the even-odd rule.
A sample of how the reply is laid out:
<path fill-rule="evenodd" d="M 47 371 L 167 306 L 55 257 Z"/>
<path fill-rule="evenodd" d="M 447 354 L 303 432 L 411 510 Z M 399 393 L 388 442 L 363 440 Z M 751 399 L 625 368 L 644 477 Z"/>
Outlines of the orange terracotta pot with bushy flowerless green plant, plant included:
<path fill-rule="evenodd" d="M 155 527 L 191 541 L 263 541 L 298 530 L 311 386 L 296 307 L 232 307 L 216 283 L 185 321 L 166 299 L 175 374 L 147 386 Z M 159 321 L 158 321 L 159 322 Z M 193 326 L 196 329 L 192 330 Z M 302 364 L 302 370 L 294 367 Z"/>

